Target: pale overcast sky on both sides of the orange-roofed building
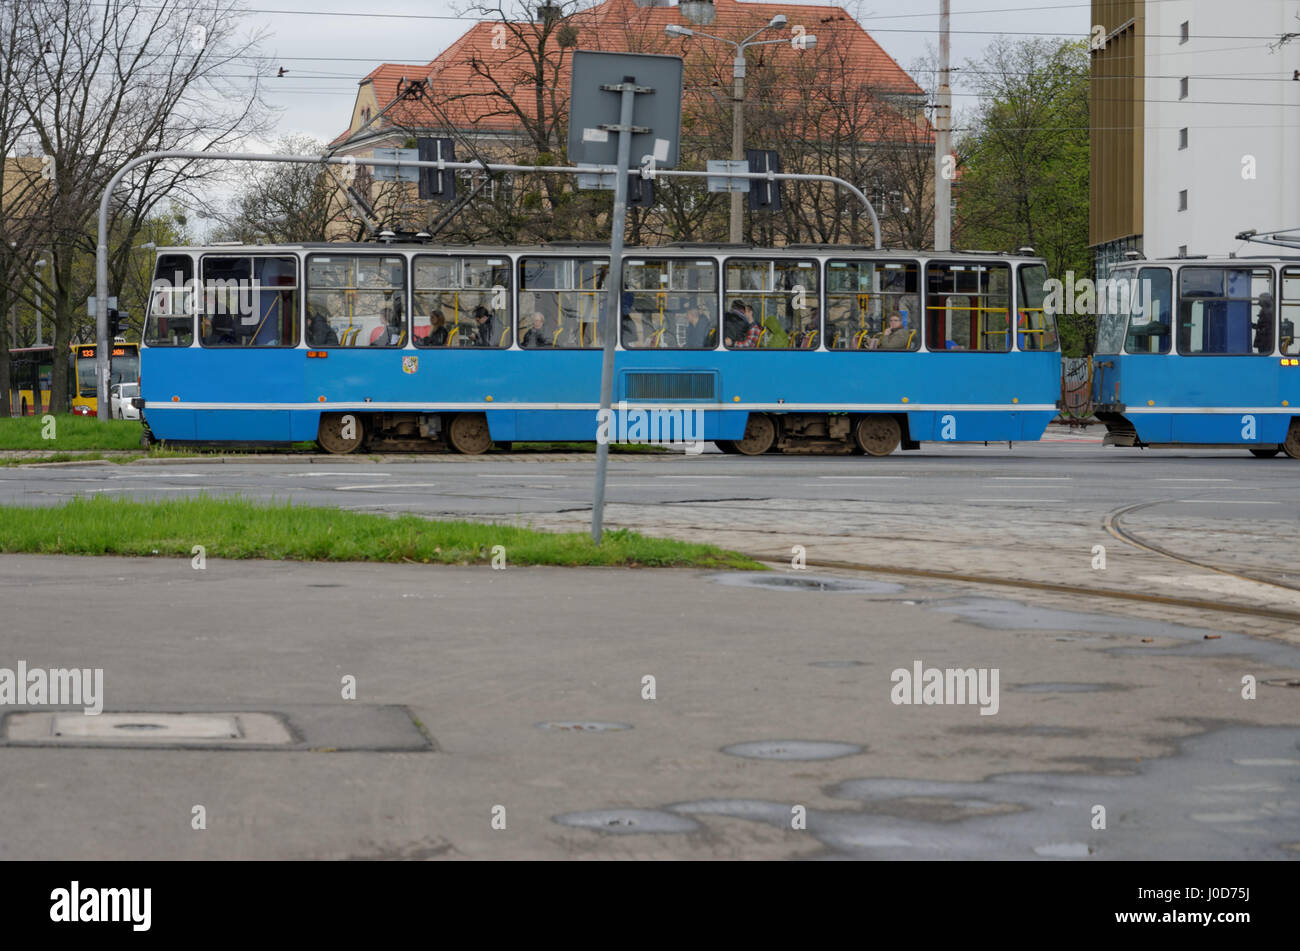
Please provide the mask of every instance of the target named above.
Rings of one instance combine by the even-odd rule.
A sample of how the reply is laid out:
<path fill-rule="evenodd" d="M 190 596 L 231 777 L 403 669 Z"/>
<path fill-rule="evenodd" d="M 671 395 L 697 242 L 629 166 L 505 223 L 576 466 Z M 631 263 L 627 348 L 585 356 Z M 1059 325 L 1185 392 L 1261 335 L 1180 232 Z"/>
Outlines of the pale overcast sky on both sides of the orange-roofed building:
<path fill-rule="evenodd" d="M 370 0 L 364 6 L 358 0 L 247 3 L 251 23 L 270 34 L 265 52 L 273 57 L 272 65 L 289 70 L 289 75 L 269 81 L 270 101 L 283 109 L 280 134 L 306 133 L 324 140 L 347 127 L 356 83 L 376 65 L 428 62 L 473 22 L 459 16 L 468 5 L 463 0 Z M 789 5 L 801 4 L 789 0 Z M 927 47 L 937 48 L 939 0 L 841 5 L 904 69 L 923 57 Z M 953 65 L 979 56 L 1002 32 L 1083 38 L 1089 8 L 1088 0 L 952 0 Z M 796 17 L 790 22 L 797 22 Z M 967 101 L 958 87 L 954 105 Z"/>

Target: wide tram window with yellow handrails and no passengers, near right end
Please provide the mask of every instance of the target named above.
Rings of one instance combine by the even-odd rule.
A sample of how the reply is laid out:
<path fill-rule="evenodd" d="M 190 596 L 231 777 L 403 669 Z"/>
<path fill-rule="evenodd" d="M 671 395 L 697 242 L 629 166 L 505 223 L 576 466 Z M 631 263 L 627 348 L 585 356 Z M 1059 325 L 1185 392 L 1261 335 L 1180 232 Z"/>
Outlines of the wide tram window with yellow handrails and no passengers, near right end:
<path fill-rule="evenodd" d="M 932 262 L 926 269 L 926 346 L 1005 353 L 1011 348 L 1010 290 L 1005 264 Z"/>

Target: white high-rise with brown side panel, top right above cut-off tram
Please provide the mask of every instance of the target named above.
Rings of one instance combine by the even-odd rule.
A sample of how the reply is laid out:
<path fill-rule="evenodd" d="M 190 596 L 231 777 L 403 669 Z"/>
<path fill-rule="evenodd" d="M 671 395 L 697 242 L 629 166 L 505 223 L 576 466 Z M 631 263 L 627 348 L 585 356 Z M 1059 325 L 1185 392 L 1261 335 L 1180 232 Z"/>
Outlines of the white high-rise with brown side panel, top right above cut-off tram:
<path fill-rule="evenodd" d="M 1093 0 L 1093 22 L 1098 272 L 1300 227 L 1300 0 Z"/>

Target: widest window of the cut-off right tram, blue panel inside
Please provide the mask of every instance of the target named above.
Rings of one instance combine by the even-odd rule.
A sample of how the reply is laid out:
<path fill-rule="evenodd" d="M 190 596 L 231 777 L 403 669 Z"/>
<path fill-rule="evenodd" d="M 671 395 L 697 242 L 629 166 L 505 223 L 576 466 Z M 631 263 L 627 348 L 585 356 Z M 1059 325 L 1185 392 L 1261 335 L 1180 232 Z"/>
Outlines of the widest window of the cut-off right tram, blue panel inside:
<path fill-rule="evenodd" d="M 1271 268 L 1183 268 L 1179 272 L 1179 353 L 1271 353 L 1275 330 Z"/>

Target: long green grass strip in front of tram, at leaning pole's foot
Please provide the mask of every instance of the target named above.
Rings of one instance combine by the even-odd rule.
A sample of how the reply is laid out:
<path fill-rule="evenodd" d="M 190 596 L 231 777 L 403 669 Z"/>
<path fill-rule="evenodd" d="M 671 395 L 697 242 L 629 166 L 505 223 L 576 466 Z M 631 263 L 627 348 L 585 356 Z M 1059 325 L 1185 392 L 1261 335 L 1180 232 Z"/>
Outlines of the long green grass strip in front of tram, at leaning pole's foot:
<path fill-rule="evenodd" d="M 0 552 L 164 555 L 214 559 L 488 564 L 504 546 L 507 565 L 624 565 L 762 570 L 744 555 L 627 529 L 585 534 L 367 514 L 239 498 L 73 499 L 58 507 L 0 505 Z"/>

